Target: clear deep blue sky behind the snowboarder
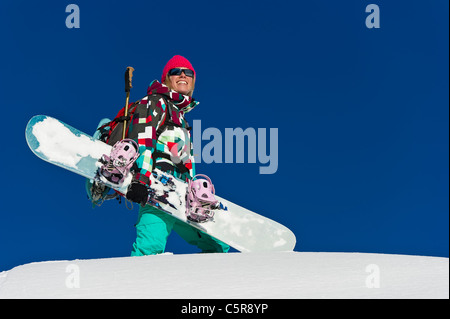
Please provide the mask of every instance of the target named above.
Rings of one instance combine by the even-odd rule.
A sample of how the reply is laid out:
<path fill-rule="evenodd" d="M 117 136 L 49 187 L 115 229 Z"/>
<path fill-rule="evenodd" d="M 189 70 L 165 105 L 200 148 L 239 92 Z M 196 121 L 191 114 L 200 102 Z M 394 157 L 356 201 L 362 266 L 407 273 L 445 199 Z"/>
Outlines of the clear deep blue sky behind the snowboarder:
<path fill-rule="evenodd" d="M 79 29 L 66 27 L 70 3 Z M 379 29 L 366 27 L 370 3 Z M 198 74 L 188 120 L 222 133 L 278 129 L 275 174 L 198 165 L 221 196 L 287 225 L 297 251 L 448 257 L 448 6 L 1 1 L 0 271 L 130 254 L 136 208 L 92 209 L 84 180 L 35 157 L 24 130 L 47 114 L 92 133 L 124 105 L 128 65 L 137 100 L 175 54 Z M 197 249 L 173 234 L 167 251 Z"/>

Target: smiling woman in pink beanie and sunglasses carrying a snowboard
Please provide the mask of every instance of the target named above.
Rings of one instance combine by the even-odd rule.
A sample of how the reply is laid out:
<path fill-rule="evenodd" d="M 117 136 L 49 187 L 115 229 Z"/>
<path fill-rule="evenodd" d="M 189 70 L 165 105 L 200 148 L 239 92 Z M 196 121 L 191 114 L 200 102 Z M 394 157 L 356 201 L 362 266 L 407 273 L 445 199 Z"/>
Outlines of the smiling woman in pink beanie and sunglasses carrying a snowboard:
<path fill-rule="evenodd" d="M 171 231 L 205 253 L 225 253 L 229 246 L 157 208 L 145 204 L 153 169 L 187 182 L 195 176 L 192 139 L 185 113 L 198 104 L 192 98 L 196 72 L 183 56 L 172 57 L 165 65 L 161 82 L 154 80 L 147 96 L 139 100 L 128 126 L 128 137 L 139 146 L 138 170 L 126 197 L 141 204 L 136 223 L 132 256 L 161 254 Z M 177 160 L 174 160 L 177 159 Z"/>

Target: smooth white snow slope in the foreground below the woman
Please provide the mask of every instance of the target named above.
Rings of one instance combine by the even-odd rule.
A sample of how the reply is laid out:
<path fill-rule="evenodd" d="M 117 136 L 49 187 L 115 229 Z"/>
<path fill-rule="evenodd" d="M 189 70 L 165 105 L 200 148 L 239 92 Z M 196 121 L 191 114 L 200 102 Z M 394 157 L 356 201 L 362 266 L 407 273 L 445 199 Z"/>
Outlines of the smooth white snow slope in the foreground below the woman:
<path fill-rule="evenodd" d="M 49 261 L 0 273 L 0 298 L 449 298 L 449 263 L 307 252 Z"/>

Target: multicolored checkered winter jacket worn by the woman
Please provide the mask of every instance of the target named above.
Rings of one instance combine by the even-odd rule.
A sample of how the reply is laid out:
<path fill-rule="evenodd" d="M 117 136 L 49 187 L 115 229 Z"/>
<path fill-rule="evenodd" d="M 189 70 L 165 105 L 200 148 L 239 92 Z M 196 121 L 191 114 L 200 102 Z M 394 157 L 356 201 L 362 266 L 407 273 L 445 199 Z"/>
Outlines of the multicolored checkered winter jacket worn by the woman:
<path fill-rule="evenodd" d="M 198 103 L 157 80 L 150 84 L 147 96 L 137 102 L 127 134 L 139 144 L 137 180 L 150 185 L 154 168 L 182 180 L 195 175 L 192 138 L 184 114 Z"/>

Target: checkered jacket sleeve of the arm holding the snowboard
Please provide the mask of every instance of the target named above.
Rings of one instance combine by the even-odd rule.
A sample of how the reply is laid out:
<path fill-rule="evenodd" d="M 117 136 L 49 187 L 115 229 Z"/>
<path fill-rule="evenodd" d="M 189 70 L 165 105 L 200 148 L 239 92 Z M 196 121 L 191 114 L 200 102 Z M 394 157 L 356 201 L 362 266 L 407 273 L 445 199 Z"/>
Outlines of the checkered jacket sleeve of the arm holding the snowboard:
<path fill-rule="evenodd" d="M 136 161 L 139 168 L 135 179 L 150 185 L 150 176 L 153 170 L 153 153 L 156 149 L 156 132 L 164 123 L 166 116 L 166 105 L 162 98 L 147 96 L 140 100 L 133 114 L 132 128 L 129 136 L 137 139 L 139 153 Z"/>

